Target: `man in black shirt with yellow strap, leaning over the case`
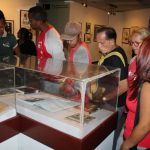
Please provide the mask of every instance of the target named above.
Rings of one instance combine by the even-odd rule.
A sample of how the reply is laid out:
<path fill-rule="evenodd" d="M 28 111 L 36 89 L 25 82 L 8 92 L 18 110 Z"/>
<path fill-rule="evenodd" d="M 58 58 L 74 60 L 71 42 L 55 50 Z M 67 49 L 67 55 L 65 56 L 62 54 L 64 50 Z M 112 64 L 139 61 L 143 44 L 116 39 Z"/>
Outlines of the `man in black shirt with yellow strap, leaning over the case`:
<path fill-rule="evenodd" d="M 127 88 L 127 74 L 128 63 L 124 50 L 116 44 L 117 34 L 115 29 L 111 27 L 102 27 L 97 31 L 98 47 L 102 53 L 99 65 L 111 66 L 121 69 L 121 76 L 119 82 L 119 98 L 118 98 L 118 128 L 115 131 L 113 150 L 116 149 L 117 139 L 122 129 L 122 120 L 124 105 L 126 100 L 126 88 Z M 111 93 L 110 93 L 111 94 Z M 108 98 L 108 97 L 107 97 Z M 120 123 L 122 123 L 120 125 Z M 119 128 L 119 126 L 121 126 Z"/>

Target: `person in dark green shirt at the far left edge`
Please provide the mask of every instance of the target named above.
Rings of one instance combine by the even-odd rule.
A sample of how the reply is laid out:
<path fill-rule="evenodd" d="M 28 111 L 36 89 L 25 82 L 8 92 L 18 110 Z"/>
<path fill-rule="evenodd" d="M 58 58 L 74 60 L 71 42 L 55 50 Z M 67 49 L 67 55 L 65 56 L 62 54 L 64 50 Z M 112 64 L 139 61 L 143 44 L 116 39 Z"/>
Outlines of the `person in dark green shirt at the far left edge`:
<path fill-rule="evenodd" d="M 15 36 L 5 30 L 6 21 L 3 12 L 0 10 L 0 62 L 16 64 L 15 52 L 19 56 L 19 48 Z"/>

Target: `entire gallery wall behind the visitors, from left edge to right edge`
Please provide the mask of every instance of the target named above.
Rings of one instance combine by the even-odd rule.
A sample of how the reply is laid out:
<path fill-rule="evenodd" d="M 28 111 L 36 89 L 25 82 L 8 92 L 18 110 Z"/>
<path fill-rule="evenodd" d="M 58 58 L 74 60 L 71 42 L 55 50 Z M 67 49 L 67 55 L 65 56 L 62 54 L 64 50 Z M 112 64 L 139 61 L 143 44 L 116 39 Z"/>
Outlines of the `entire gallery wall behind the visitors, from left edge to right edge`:
<path fill-rule="evenodd" d="M 40 1 L 39 1 L 40 2 Z M 1 0 L 0 9 L 4 12 L 7 20 L 14 20 L 14 34 L 20 28 L 20 10 L 28 10 L 30 7 L 36 5 L 38 0 Z M 40 5 L 49 4 L 48 0 L 41 0 Z M 99 60 L 99 50 L 97 43 L 93 41 L 94 26 L 108 25 L 112 26 L 117 31 L 117 43 L 122 46 L 128 56 L 131 58 L 131 48 L 129 44 L 122 43 L 122 29 L 138 27 L 147 27 L 150 19 L 150 9 L 142 9 L 128 12 L 119 12 L 116 15 L 107 15 L 106 11 L 96 9 L 93 7 L 83 7 L 81 4 L 71 2 L 68 4 L 52 4 L 50 9 L 47 9 L 48 19 L 56 29 L 62 33 L 65 24 L 70 21 L 77 21 L 82 23 L 82 40 L 84 40 L 86 23 L 91 23 L 91 42 L 88 43 L 91 49 L 93 61 Z"/>

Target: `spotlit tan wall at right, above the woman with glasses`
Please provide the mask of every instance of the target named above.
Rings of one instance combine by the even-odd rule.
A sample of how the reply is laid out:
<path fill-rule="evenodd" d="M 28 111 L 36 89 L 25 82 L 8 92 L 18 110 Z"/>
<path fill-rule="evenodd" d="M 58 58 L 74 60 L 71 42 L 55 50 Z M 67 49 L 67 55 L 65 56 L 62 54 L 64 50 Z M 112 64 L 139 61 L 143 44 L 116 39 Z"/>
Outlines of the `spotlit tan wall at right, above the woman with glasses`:
<path fill-rule="evenodd" d="M 122 44 L 122 28 L 131 28 L 134 26 L 138 27 L 148 27 L 148 21 L 150 19 L 149 15 L 150 9 L 142 9 L 135 11 L 128 11 L 124 13 L 117 13 L 116 16 L 110 16 L 110 25 L 117 30 L 118 43 L 122 45 L 128 60 L 131 58 L 131 47 L 128 44 Z"/>

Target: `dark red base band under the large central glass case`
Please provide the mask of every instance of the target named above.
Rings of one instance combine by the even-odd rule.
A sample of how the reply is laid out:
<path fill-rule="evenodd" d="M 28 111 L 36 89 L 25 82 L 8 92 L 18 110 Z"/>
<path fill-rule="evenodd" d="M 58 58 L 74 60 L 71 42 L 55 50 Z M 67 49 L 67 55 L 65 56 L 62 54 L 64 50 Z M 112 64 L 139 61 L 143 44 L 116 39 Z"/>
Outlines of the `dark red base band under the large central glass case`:
<path fill-rule="evenodd" d="M 117 113 L 114 113 L 90 134 L 83 139 L 78 139 L 20 115 L 20 132 L 53 149 L 91 150 L 97 147 L 116 128 L 116 123 Z"/>

